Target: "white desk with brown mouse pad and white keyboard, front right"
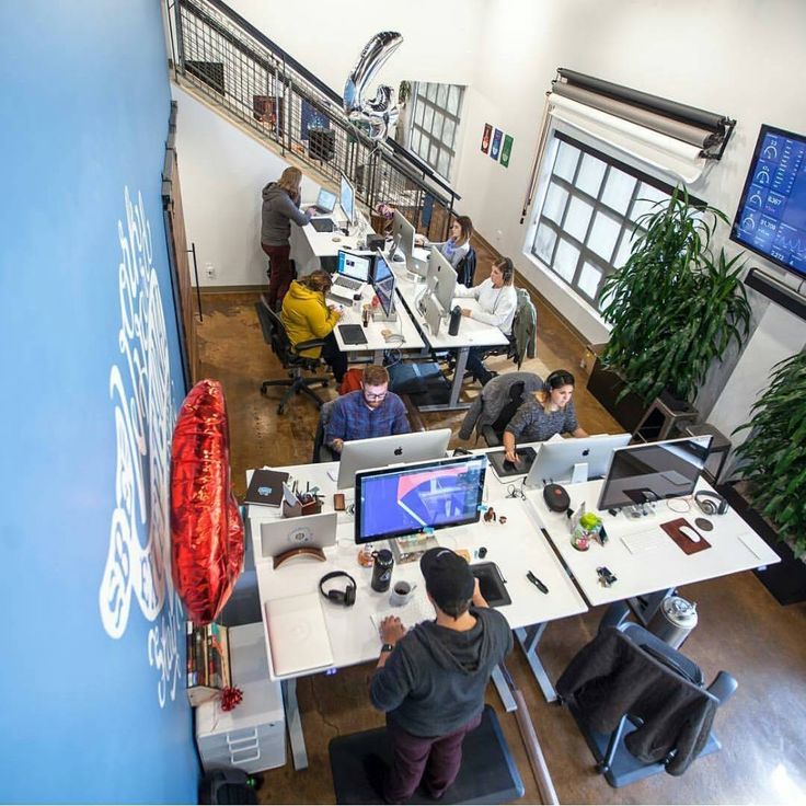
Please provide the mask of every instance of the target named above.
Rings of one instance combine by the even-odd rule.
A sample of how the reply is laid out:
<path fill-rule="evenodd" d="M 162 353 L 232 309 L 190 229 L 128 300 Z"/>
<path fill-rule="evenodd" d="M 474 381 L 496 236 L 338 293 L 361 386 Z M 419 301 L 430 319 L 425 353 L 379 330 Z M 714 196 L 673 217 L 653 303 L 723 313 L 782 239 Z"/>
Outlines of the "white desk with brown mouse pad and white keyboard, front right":
<path fill-rule="evenodd" d="M 585 502 L 587 510 L 596 511 L 601 485 L 601 481 L 564 485 L 571 496 L 571 508 L 576 510 Z M 703 479 L 696 488 L 713 490 Z M 694 526 L 694 518 L 705 516 L 693 502 L 688 513 L 672 511 L 665 502 L 658 502 L 653 514 L 635 519 L 623 511 L 617 516 L 597 513 L 609 540 L 603 546 L 591 542 L 588 551 L 580 552 L 571 544 L 568 519 L 562 513 L 549 510 L 542 491 L 528 491 L 527 499 L 591 606 L 668 590 L 780 561 L 778 554 L 733 509 L 725 515 L 707 517 L 714 525 L 713 530 L 698 531 L 711 548 L 695 554 L 686 554 L 659 526 L 677 518 L 686 518 Z M 679 506 L 679 500 L 675 506 Z M 648 546 L 632 553 L 622 538 L 637 533 L 646 533 Z M 617 577 L 609 588 L 598 580 L 596 568 L 601 565 Z"/>

